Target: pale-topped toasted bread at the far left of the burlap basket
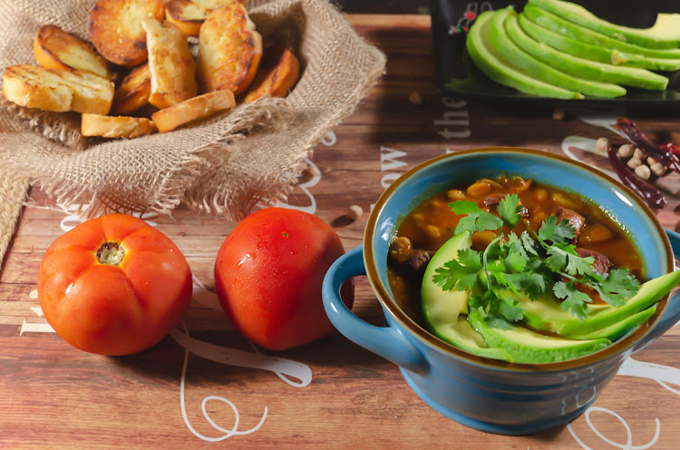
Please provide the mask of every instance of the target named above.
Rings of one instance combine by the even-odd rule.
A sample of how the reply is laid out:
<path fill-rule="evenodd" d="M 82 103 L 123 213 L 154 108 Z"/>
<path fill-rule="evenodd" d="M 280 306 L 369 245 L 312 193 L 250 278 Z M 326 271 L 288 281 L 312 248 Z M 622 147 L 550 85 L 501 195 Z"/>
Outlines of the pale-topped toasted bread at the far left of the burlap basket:
<path fill-rule="evenodd" d="M 5 98 L 27 108 L 98 114 L 111 110 L 113 83 L 92 73 L 19 64 L 5 69 L 3 81 Z"/>

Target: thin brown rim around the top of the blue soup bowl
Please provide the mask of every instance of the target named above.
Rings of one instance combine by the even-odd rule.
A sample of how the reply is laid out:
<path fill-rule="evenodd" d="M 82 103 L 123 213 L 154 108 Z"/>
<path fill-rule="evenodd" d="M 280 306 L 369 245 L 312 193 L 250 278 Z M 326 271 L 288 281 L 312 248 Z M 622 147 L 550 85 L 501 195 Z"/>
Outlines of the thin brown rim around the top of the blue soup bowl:
<path fill-rule="evenodd" d="M 472 355 L 471 353 L 461 350 L 458 347 L 454 347 L 451 344 L 443 341 L 439 337 L 434 336 L 432 333 L 418 325 L 413 320 L 413 318 L 410 318 L 405 312 L 403 312 L 402 308 L 400 308 L 397 305 L 396 301 L 388 293 L 388 289 L 386 289 L 383 282 L 381 281 L 374 262 L 373 236 L 374 231 L 376 230 L 377 227 L 377 218 L 383 211 L 387 201 L 389 201 L 389 199 L 392 197 L 393 192 L 396 191 L 399 188 L 399 186 L 403 184 L 404 181 L 409 180 L 411 177 L 413 177 L 413 175 L 417 174 L 420 171 L 423 171 L 424 169 L 433 164 L 438 163 L 439 161 L 455 159 L 457 157 L 470 154 L 483 154 L 483 153 L 530 154 L 560 161 L 561 163 L 565 163 L 567 165 L 575 166 L 578 169 L 588 171 L 590 172 L 590 174 L 614 185 L 617 189 L 626 191 L 628 196 L 631 199 L 633 199 L 633 201 L 636 201 L 638 209 L 644 211 L 647 218 L 656 227 L 658 235 L 663 241 L 666 250 L 665 255 L 667 268 L 666 271 L 670 273 L 675 269 L 675 257 L 673 255 L 673 249 L 671 248 L 670 241 L 668 240 L 668 237 L 665 234 L 664 227 L 656 218 L 656 214 L 654 213 L 653 210 L 651 210 L 651 208 L 649 208 L 649 206 L 647 206 L 645 201 L 642 201 L 642 199 L 640 199 L 633 191 L 627 188 L 627 186 L 622 184 L 620 181 L 613 179 L 606 173 L 599 171 L 593 167 L 590 167 L 583 162 L 575 161 L 559 154 L 520 147 L 472 148 L 467 150 L 461 150 L 458 152 L 443 154 L 416 165 L 415 167 L 413 167 L 413 169 L 406 171 L 397 180 L 393 181 L 393 183 L 390 186 L 388 186 L 387 189 L 383 192 L 378 201 L 375 202 L 374 208 L 373 210 L 371 210 L 371 213 L 366 223 L 366 227 L 364 229 L 363 253 L 367 278 L 371 284 L 371 287 L 374 290 L 375 296 L 378 298 L 378 301 L 383 306 L 384 311 L 387 314 L 389 314 L 393 318 L 393 320 L 399 323 L 403 328 L 408 329 L 412 333 L 413 337 L 416 337 L 418 340 L 420 340 L 423 344 L 425 344 L 428 347 L 432 347 L 433 349 L 436 349 L 441 353 L 448 354 L 449 356 L 455 357 L 459 360 L 462 360 L 463 362 L 467 362 L 475 366 L 488 367 L 496 370 L 505 370 L 508 372 L 553 372 L 577 369 L 579 367 L 593 366 L 601 361 L 604 361 L 605 359 L 608 359 L 610 357 L 616 357 L 617 355 L 622 354 L 623 352 L 627 351 L 627 349 L 633 347 L 637 342 L 641 341 L 644 337 L 646 337 L 646 335 L 652 330 L 652 328 L 654 328 L 658 319 L 661 318 L 661 316 L 663 315 L 670 294 L 667 294 L 665 295 L 664 298 L 659 299 L 656 302 L 657 308 L 655 313 L 650 318 L 647 318 L 647 320 L 643 324 L 638 326 L 632 333 L 628 334 L 626 337 L 620 338 L 617 341 L 615 341 L 612 345 L 603 348 L 602 350 L 598 350 L 597 352 L 590 353 L 586 356 L 551 363 L 509 363 L 498 359 L 491 359 L 487 357 L 478 357 L 476 355 Z M 588 198 L 587 196 L 584 197 Z M 408 212 L 407 210 L 403 211 L 403 213 L 407 212 Z M 661 308 L 658 308 L 658 306 L 661 306 Z"/>

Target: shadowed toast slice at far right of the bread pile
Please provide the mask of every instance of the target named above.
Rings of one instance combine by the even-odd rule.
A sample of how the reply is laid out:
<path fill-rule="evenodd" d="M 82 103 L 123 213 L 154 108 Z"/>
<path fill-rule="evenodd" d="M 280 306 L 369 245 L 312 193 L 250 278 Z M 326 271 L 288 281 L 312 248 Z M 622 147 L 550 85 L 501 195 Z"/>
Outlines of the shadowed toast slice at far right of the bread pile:
<path fill-rule="evenodd" d="M 253 103 L 265 95 L 285 97 L 295 86 L 300 75 L 296 55 L 286 47 L 277 45 L 265 50 L 255 80 L 250 84 L 245 102 Z"/>

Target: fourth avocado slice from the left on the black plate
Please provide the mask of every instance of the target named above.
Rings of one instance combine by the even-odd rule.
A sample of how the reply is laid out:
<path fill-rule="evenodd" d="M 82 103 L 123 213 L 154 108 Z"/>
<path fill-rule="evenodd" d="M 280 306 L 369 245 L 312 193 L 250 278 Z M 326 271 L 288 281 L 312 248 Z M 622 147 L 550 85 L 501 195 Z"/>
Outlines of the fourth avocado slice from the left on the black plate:
<path fill-rule="evenodd" d="M 663 71 L 680 69 L 680 59 L 647 58 L 640 54 L 626 54 L 617 49 L 582 43 L 555 33 L 529 20 L 525 14 L 519 16 L 520 28 L 535 41 L 549 44 L 556 50 L 600 63 L 625 65 Z"/>

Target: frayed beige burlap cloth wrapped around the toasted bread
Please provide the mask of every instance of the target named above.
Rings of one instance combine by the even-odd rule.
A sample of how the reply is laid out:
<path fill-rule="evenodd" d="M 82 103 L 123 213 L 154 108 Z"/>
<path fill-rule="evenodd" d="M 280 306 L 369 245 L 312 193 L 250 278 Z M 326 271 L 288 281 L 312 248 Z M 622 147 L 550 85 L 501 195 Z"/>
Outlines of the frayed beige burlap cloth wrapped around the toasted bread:
<path fill-rule="evenodd" d="M 41 24 L 89 40 L 93 4 L 0 0 L 0 66 L 35 64 L 34 35 Z M 301 77 L 286 99 L 241 105 L 176 132 L 94 142 L 80 135 L 77 114 L 3 100 L 3 206 L 5 195 L 21 204 L 26 180 L 84 216 L 104 210 L 167 213 L 185 202 L 238 218 L 263 198 L 285 196 L 312 146 L 353 112 L 383 73 L 384 55 L 325 0 L 253 0 L 247 8 L 265 44 L 287 44 L 300 60 Z M 8 180 L 23 184 L 7 187 Z M 0 250 L 15 219 L 14 213 L 0 217 Z"/>

